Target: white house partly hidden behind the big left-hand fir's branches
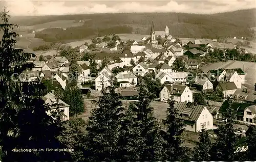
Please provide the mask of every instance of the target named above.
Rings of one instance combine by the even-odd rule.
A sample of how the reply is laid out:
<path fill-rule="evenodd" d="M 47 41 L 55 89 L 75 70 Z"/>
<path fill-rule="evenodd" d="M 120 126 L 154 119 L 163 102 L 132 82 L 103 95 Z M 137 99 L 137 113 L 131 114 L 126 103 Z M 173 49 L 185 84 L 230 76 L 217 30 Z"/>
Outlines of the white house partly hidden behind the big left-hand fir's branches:
<path fill-rule="evenodd" d="M 62 100 L 57 100 L 54 92 L 48 93 L 42 99 L 45 101 L 45 104 L 49 104 L 51 107 L 51 110 L 47 112 L 48 115 L 51 115 L 52 112 L 56 111 L 63 111 L 63 120 L 69 120 L 69 105 Z M 58 107 L 56 104 L 59 104 Z"/>

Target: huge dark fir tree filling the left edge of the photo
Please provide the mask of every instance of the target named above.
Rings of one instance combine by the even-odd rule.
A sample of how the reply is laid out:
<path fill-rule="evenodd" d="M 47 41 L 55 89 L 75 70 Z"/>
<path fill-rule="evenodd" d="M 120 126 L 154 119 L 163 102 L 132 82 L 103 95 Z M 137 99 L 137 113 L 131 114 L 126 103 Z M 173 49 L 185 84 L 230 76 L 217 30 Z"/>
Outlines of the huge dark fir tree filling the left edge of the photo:
<path fill-rule="evenodd" d="M 38 82 L 20 82 L 17 75 L 34 65 L 26 63 L 32 53 L 13 46 L 18 36 L 9 24 L 6 9 L 1 13 L 4 32 L 0 45 L 0 146 L 3 161 L 62 161 L 71 160 L 68 153 L 45 152 L 39 149 L 63 148 L 57 136 L 61 130 L 60 117 L 52 118 L 46 112 L 49 105 L 42 100 L 44 85 Z M 16 75 L 15 75 L 16 74 Z M 37 149 L 32 152 L 14 152 L 13 149 Z M 66 155 L 67 156 L 66 156 Z"/>

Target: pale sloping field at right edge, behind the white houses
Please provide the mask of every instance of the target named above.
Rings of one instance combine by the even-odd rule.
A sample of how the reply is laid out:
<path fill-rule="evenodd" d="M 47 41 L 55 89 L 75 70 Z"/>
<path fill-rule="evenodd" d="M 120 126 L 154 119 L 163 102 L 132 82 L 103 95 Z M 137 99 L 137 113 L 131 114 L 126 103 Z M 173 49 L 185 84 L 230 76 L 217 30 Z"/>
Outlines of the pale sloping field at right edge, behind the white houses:
<path fill-rule="evenodd" d="M 204 66 L 202 70 L 203 72 L 207 72 L 208 70 L 216 70 L 219 68 L 241 68 L 246 73 L 245 86 L 249 89 L 254 89 L 254 84 L 256 83 L 256 63 L 242 61 L 218 62 Z"/>

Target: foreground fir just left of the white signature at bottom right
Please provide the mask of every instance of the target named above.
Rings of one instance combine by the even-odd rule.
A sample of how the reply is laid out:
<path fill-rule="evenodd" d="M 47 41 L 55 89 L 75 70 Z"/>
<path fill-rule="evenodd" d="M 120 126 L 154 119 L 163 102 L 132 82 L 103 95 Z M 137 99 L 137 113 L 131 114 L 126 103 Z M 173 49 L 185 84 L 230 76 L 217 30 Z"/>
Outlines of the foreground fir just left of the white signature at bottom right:
<path fill-rule="evenodd" d="M 218 138 L 211 151 L 211 158 L 215 161 L 233 161 L 235 156 L 234 151 L 236 151 L 238 142 L 238 138 L 234 133 L 235 128 L 232 125 L 232 121 L 234 119 L 234 114 L 231 107 L 232 101 L 227 99 L 226 102 L 228 103 L 228 106 L 226 113 L 223 114 L 223 116 L 227 122 L 219 126 L 217 133 Z"/>

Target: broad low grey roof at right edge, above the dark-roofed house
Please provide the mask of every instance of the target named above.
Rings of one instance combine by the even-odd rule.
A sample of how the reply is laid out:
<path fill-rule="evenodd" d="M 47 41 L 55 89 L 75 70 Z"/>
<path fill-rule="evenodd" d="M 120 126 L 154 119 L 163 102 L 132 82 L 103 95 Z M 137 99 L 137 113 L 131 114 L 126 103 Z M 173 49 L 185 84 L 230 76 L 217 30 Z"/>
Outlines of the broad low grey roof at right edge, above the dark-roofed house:
<path fill-rule="evenodd" d="M 256 93 L 253 91 L 248 91 L 247 88 L 244 89 L 237 89 L 236 92 L 231 96 L 236 102 L 243 102 L 248 104 L 255 104 L 256 103 Z"/>

